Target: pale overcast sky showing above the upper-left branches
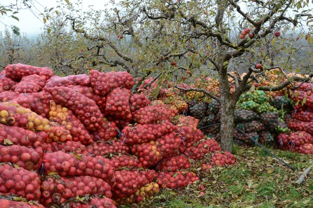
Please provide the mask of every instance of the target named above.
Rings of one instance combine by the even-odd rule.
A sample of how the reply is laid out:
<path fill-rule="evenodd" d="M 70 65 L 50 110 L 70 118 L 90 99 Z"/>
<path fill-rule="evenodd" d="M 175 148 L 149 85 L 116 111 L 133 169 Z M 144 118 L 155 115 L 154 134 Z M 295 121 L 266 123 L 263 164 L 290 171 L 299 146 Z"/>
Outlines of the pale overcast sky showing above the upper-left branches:
<path fill-rule="evenodd" d="M 15 0 L 0 0 L 0 5 L 10 5 L 15 3 Z M 55 8 L 60 3 L 65 3 L 64 0 L 53 1 L 53 0 L 31 0 L 30 2 L 32 6 L 32 11 L 36 13 L 36 15 L 32 14 L 30 10 L 19 10 L 18 14 L 15 16 L 18 17 L 19 22 L 9 18 L 0 18 L 0 31 L 3 31 L 5 25 L 8 27 L 15 25 L 20 29 L 20 33 L 26 33 L 29 37 L 37 36 L 42 32 L 41 28 L 43 27 L 42 18 L 39 17 L 38 14 L 43 13 L 44 7 L 46 8 Z M 70 3 L 77 3 L 77 0 L 69 0 Z M 82 10 L 88 10 L 89 5 L 93 5 L 93 8 L 99 10 L 104 9 L 104 4 L 108 3 L 108 0 L 81 0 L 82 2 Z M 66 3 L 65 3 L 66 4 Z M 1 16 L 0 16 L 1 17 Z M 4 24 L 5 25 L 4 25 Z"/>

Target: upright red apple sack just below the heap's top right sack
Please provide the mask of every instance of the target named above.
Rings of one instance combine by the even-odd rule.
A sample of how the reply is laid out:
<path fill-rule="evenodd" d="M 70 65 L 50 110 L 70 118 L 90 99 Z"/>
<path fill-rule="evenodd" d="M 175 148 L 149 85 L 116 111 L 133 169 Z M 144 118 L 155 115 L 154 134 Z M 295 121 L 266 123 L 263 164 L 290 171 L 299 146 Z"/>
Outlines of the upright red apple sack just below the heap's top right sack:
<path fill-rule="evenodd" d="M 115 118 L 131 120 L 130 95 L 130 90 L 126 88 L 113 89 L 106 97 L 105 113 Z"/>

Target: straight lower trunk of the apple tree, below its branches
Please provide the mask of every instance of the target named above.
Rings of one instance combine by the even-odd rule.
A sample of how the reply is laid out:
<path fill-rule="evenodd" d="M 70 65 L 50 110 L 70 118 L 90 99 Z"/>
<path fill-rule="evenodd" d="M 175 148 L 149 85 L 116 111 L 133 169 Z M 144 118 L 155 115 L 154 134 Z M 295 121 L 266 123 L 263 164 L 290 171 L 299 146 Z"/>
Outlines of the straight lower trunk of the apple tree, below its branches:
<path fill-rule="evenodd" d="M 232 102 L 221 102 L 220 147 L 229 152 L 232 151 L 234 107 Z"/>

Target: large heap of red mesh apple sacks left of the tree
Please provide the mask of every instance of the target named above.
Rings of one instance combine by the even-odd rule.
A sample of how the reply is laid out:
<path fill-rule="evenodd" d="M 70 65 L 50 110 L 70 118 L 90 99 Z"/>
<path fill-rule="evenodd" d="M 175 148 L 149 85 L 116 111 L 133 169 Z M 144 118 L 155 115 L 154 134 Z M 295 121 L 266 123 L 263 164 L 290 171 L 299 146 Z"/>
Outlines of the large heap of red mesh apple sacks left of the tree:
<path fill-rule="evenodd" d="M 178 115 L 188 111 L 170 98 L 178 91 L 151 104 L 132 95 L 133 85 L 127 72 L 58 77 L 8 65 L 0 73 L 0 206 L 116 207 L 193 183 L 190 168 L 201 159 L 211 158 L 195 169 L 234 163 L 197 129 L 207 112 L 219 119 L 216 103 L 193 106 L 196 118 Z"/>

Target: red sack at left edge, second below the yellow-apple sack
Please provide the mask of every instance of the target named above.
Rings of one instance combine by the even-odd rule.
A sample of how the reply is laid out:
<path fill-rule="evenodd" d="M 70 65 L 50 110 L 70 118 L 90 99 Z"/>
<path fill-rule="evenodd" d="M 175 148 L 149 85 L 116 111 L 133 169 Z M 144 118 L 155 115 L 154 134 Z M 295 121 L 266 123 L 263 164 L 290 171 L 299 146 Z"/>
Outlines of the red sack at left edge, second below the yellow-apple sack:
<path fill-rule="evenodd" d="M 42 164 L 43 151 L 25 146 L 0 145 L 0 162 L 11 162 L 26 170 L 38 170 Z"/>

